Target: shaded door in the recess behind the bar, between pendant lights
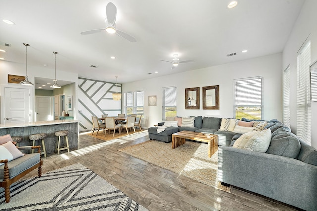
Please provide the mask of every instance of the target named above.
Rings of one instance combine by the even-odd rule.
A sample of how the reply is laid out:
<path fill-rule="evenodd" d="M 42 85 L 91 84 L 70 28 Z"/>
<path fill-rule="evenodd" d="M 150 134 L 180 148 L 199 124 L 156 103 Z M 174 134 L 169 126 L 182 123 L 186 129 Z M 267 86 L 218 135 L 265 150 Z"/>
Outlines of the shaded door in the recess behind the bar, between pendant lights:
<path fill-rule="evenodd" d="M 53 120 L 52 97 L 35 96 L 35 121 Z"/>

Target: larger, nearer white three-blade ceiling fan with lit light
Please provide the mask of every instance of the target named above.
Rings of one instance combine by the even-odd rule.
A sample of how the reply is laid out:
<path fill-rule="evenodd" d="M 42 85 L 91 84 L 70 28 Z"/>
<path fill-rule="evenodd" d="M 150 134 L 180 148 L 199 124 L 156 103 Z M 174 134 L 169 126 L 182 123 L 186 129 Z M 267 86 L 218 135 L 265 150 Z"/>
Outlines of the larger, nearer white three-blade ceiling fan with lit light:
<path fill-rule="evenodd" d="M 107 13 L 107 17 L 105 18 L 106 28 L 88 30 L 85 32 L 81 32 L 80 34 L 89 35 L 89 34 L 94 34 L 94 33 L 98 33 L 98 32 L 103 32 L 106 30 L 106 32 L 108 32 L 110 34 L 115 33 L 116 35 L 118 35 L 124 39 L 127 39 L 130 42 L 137 42 L 136 39 L 134 37 L 132 37 L 131 35 L 128 35 L 127 33 L 116 29 L 115 19 L 117 16 L 117 7 L 113 3 L 110 2 L 107 4 L 106 13 Z"/>

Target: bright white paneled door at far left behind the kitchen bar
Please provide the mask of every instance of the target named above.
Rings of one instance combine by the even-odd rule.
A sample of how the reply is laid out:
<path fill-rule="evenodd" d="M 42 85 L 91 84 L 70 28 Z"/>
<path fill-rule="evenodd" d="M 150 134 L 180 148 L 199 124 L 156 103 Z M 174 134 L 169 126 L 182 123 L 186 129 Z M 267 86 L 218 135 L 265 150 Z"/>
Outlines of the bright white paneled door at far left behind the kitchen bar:
<path fill-rule="evenodd" d="M 23 88 L 5 88 L 4 123 L 30 122 L 30 90 Z"/>

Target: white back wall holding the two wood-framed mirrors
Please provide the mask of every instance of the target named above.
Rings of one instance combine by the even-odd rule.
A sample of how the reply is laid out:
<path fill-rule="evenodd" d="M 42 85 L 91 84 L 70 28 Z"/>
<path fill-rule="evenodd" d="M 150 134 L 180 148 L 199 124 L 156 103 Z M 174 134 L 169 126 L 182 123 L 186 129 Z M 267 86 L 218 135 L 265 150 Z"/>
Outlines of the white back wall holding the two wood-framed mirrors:
<path fill-rule="evenodd" d="M 263 118 L 282 120 L 282 54 L 274 54 L 224 65 L 125 83 L 122 91 L 144 91 L 142 126 L 162 121 L 162 88 L 177 86 L 178 116 L 233 117 L 233 79 L 263 76 Z M 172 70 L 171 70 L 172 72 Z M 159 73 L 158 73 L 159 76 Z M 219 85 L 220 109 L 202 109 L 202 87 Z M 200 87 L 200 109 L 185 109 L 185 88 Z M 157 96 L 157 106 L 148 106 L 148 96 Z"/>

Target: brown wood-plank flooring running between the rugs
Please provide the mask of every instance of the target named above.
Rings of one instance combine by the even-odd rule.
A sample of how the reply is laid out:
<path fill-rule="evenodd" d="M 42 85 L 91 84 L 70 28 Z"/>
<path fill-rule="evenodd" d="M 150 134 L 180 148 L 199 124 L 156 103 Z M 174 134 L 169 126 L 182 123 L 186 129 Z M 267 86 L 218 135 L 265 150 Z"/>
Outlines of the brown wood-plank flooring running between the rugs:
<path fill-rule="evenodd" d="M 134 158 L 117 149 L 149 140 L 147 131 L 111 140 L 81 133 L 78 149 L 43 158 L 42 172 L 81 163 L 150 211 L 294 211 L 292 206 L 234 187 L 232 193 Z M 168 143 L 171 145 L 171 143 Z M 37 170 L 25 178 L 37 175 Z"/>

